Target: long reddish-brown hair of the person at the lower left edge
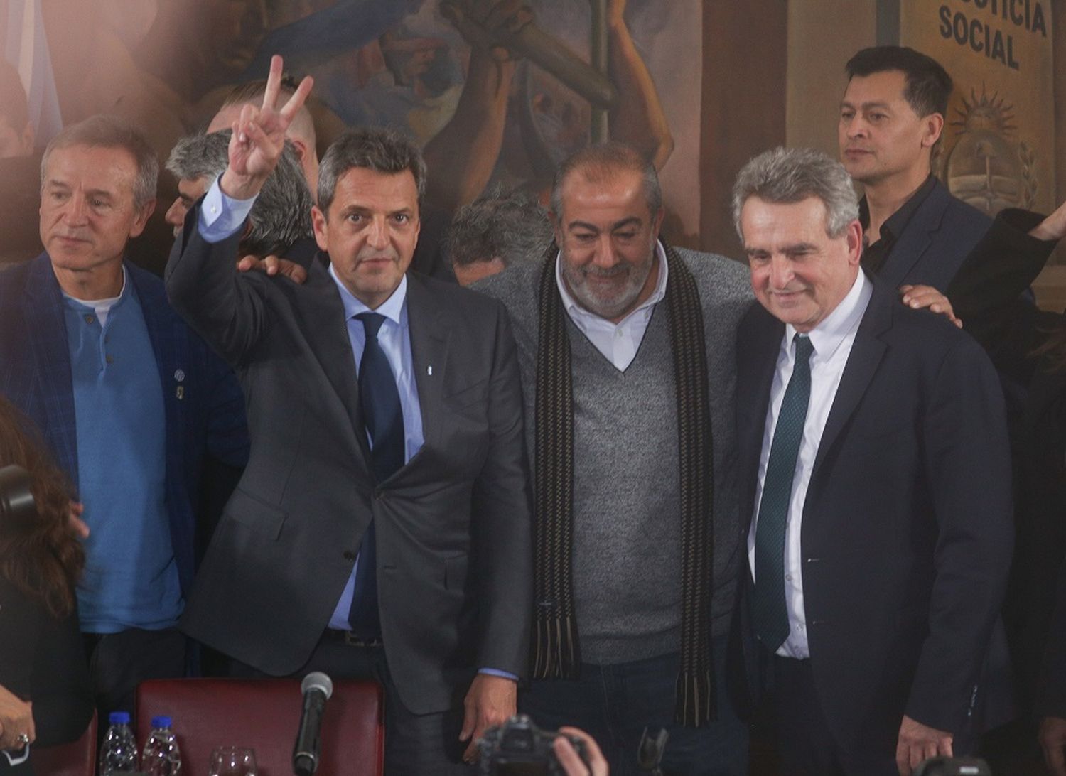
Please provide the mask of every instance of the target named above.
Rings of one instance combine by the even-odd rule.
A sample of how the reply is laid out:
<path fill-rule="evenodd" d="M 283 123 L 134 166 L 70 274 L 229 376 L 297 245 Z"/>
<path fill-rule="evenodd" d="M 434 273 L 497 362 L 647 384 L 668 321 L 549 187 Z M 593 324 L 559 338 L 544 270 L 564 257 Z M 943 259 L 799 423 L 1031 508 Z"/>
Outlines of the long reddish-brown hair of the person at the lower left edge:
<path fill-rule="evenodd" d="M 29 529 L 0 523 L 0 577 L 55 617 L 74 611 L 85 551 L 70 529 L 71 488 L 30 421 L 0 398 L 0 466 L 30 472 L 37 519 Z"/>

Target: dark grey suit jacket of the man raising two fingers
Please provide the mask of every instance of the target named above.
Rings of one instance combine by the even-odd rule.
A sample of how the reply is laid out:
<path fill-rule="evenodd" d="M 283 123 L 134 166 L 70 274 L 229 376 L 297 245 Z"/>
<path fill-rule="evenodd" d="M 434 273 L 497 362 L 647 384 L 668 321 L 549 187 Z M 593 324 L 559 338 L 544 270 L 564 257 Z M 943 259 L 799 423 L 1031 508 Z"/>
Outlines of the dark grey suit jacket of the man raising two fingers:
<path fill-rule="evenodd" d="M 415 713 L 450 707 L 478 667 L 524 676 L 532 545 L 522 398 L 506 311 L 408 274 L 425 443 L 375 483 L 336 284 L 233 270 L 193 208 L 167 293 L 236 369 L 252 454 L 181 627 L 268 674 L 296 672 L 326 628 L 371 517 L 386 656 Z M 431 369 L 432 367 L 432 369 Z"/>

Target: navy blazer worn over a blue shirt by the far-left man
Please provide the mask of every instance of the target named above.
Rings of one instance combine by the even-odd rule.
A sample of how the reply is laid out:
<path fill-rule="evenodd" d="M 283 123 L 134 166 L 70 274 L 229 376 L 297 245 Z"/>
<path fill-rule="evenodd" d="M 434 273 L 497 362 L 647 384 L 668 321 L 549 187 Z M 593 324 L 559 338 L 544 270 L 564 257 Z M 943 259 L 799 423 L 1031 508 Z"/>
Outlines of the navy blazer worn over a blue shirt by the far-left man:
<path fill-rule="evenodd" d="M 129 262 L 126 270 L 141 302 L 163 390 L 166 506 L 178 576 L 188 593 L 204 454 L 210 451 L 233 466 L 247 462 L 244 403 L 229 368 L 167 304 L 162 280 Z M 63 304 L 47 253 L 0 272 L 0 393 L 41 430 L 77 488 L 79 451 Z"/>

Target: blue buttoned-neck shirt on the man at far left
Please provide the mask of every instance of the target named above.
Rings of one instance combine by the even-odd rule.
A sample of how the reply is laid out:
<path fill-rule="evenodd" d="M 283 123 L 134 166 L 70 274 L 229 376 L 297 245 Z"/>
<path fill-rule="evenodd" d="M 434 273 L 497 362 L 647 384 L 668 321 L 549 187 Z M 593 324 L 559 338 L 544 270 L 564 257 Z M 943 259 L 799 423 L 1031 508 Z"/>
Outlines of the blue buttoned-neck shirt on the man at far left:
<path fill-rule="evenodd" d="M 166 510 L 163 392 L 141 302 L 124 275 L 115 300 L 64 303 L 79 498 L 91 531 L 81 629 L 167 628 L 183 602 Z"/>

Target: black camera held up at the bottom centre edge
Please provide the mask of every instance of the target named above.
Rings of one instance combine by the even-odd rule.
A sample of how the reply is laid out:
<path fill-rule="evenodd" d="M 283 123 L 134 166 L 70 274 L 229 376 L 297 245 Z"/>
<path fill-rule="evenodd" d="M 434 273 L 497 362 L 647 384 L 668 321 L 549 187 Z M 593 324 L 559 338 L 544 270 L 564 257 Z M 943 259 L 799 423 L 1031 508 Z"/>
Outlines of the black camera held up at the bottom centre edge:
<path fill-rule="evenodd" d="M 552 742 L 564 735 L 587 765 L 585 743 L 558 731 L 542 730 L 524 714 L 513 716 L 499 727 L 489 728 L 478 742 L 481 750 L 480 767 L 484 776 L 542 776 L 563 774 L 555 759 Z"/>

